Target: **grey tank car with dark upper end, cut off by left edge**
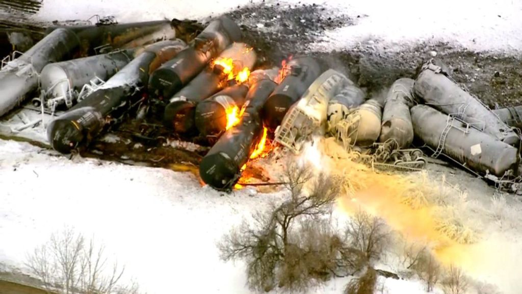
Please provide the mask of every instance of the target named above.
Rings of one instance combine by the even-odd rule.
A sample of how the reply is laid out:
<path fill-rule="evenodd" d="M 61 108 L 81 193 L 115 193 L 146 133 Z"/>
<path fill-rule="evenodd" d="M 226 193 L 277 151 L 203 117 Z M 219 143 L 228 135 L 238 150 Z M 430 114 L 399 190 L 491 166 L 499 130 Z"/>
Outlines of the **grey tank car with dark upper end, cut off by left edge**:
<path fill-rule="evenodd" d="M 0 117 L 19 106 L 38 86 L 38 74 L 48 63 L 68 58 L 79 46 L 68 29 L 57 29 L 0 71 Z"/>

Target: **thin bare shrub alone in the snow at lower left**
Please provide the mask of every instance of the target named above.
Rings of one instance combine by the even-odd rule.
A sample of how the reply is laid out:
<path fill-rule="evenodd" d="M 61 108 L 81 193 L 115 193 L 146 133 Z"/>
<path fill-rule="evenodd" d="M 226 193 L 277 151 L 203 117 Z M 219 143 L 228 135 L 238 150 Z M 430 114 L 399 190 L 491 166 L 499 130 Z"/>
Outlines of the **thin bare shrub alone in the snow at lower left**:
<path fill-rule="evenodd" d="M 124 268 L 114 263 L 106 270 L 104 247 L 71 228 L 53 233 L 50 240 L 28 255 L 26 266 L 40 278 L 48 290 L 64 294 L 137 293 L 137 284 L 121 286 Z"/>

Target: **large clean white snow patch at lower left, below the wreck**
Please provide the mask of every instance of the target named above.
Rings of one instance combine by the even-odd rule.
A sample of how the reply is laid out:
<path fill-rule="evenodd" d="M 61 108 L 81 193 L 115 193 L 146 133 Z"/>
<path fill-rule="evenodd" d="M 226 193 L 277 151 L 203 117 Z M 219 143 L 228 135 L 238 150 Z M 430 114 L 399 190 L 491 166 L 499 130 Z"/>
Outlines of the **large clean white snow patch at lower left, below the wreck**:
<path fill-rule="evenodd" d="M 226 195 L 201 188 L 189 173 L 39 151 L 0 141 L 0 158 L 7 159 L 0 163 L 3 262 L 21 267 L 26 253 L 70 225 L 117 252 L 126 273 L 149 293 L 171 289 L 173 277 L 180 292 L 250 292 L 244 267 L 221 262 L 216 242 L 280 194 Z M 204 283 L 202 265 L 212 273 Z"/>

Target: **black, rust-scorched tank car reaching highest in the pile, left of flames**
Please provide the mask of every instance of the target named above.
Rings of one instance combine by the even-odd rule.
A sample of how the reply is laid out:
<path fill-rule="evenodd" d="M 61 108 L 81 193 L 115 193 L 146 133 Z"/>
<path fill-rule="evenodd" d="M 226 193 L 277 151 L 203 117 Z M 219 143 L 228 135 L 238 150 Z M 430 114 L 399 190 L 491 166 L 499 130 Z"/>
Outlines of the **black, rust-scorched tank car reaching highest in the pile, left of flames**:
<path fill-rule="evenodd" d="M 221 16 L 212 20 L 186 50 L 152 73 L 150 97 L 171 98 L 202 71 L 210 59 L 240 40 L 241 29 L 232 19 Z"/>

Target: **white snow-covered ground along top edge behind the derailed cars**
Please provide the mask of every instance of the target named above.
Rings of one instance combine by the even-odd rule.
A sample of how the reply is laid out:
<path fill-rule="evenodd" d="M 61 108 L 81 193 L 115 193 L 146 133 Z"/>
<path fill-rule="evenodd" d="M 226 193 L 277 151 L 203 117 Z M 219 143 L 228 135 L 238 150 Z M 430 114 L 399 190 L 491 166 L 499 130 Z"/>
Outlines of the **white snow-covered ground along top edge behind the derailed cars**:
<path fill-rule="evenodd" d="M 202 19 L 242 5 L 323 4 L 328 15 L 338 13 L 357 19 L 357 25 L 325 33 L 315 44 L 319 50 L 342 49 L 372 40 L 386 49 L 413 46 L 419 41 L 460 44 L 472 51 L 520 54 L 522 50 L 522 1 L 519 0 L 44 0 L 40 20 L 88 19 L 114 15 L 121 22 L 163 18 Z"/>

